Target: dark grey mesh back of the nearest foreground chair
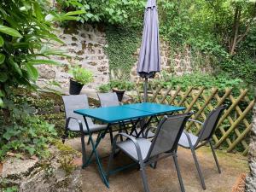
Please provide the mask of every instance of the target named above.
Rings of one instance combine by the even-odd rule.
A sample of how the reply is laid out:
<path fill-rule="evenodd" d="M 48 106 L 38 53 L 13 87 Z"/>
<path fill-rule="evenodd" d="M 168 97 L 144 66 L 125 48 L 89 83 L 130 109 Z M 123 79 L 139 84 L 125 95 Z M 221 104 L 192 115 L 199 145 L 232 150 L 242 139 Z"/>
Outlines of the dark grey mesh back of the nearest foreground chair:
<path fill-rule="evenodd" d="M 183 113 L 164 117 L 158 125 L 147 158 L 177 149 L 177 143 L 183 133 L 184 126 L 192 113 Z"/>

